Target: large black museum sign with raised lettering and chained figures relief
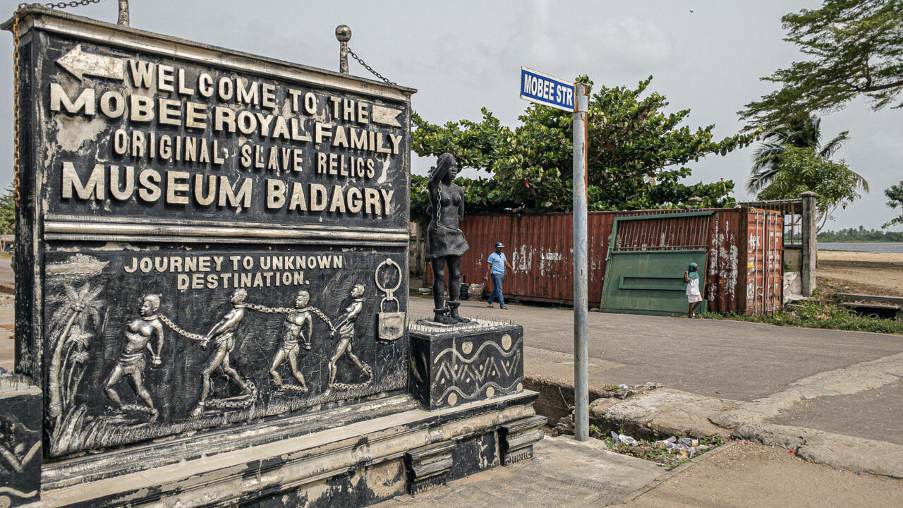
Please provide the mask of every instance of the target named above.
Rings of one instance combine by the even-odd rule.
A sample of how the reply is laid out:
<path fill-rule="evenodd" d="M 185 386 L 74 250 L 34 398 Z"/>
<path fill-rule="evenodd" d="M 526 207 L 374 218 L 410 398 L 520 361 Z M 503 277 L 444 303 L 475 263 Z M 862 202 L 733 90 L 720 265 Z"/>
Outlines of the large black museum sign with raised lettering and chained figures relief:
<path fill-rule="evenodd" d="M 414 90 L 53 15 L 16 244 L 46 453 L 405 390 Z"/>

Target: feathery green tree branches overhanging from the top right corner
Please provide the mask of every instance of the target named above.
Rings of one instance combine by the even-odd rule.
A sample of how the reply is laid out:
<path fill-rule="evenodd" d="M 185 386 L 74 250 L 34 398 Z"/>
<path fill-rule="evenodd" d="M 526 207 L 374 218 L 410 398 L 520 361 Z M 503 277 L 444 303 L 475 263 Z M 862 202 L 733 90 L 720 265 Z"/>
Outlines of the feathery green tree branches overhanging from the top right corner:
<path fill-rule="evenodd" d="M 781 88 L 740 111 L 747 129 L 774 129 L 797 111 L 840 109 L 861 96 L 875 110 L 903 107 L 903 0 L 825 0 L 781 22 L 785 41 L 808 58 L 762 78 Z"/>

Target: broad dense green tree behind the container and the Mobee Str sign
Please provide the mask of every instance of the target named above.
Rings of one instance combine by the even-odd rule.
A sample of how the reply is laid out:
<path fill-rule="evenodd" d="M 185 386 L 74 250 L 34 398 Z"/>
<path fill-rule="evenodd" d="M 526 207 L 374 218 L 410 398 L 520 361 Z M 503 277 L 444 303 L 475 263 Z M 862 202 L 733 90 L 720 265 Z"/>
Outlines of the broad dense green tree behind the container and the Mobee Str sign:
<path fill-rule="evenodd" d="M 577 80 L 591 84 L 586 76 Z M 636 210 L 680 206 L 693 196 L 702 206 L 733 203 L 733 182 L 687 185 L 686 165 L 705 155 L 726 155 L 749 146 L 754 135 L 714 140 L 714 126 L 682 125 L 689 109 L 666 114 L 668 102 L 645 95 L 650 76 L 637 88 L 600 87 L 591 93 L 588 116 L 588 189 L 591 210 Z M 414 114 L 412 149 L 417 155 L 450 152 L 458 165 L 485 170 L 489 179 L 457 182 L 467 192 L 469 210 L 505 208 L 566 212 L 572 208 L 573 115 L 531 104 L 523 125 L 502 126 L 488 109 L 479 122 L 443 126 Z M 416 189 L 414 189 L 416 192 Z M 414 192 L 412 194 L 414 194 Z M 412 196 L 412 200 L 416 200 Z M 412 208 L 412 217 L 416 216 Z"/>

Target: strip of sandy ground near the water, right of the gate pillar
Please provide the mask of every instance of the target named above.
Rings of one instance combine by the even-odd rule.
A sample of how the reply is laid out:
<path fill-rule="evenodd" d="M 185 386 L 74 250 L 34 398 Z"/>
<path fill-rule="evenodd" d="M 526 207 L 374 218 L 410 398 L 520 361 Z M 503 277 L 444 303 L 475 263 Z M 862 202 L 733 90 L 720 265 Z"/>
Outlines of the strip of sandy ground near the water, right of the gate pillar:
<path fill-rule="evenodd" d="M 816 275 L 840 293 L 903 296 L 903 253 L 819 250 Z"/>

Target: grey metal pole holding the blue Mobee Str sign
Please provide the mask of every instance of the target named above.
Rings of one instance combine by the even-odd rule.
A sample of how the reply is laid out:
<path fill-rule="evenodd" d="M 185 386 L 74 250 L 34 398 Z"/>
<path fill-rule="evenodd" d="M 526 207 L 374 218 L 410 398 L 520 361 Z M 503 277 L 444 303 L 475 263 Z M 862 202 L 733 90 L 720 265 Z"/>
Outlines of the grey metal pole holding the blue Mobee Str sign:
<path fill-rule="evenodd" d="M 586 227 L 586 122 L 589 115 L 589 85 L 574 84 L 573 110 L 573 400 L 574 437 L 590 437 L 590 392 L 587 353 L 587 227 Z"/>

